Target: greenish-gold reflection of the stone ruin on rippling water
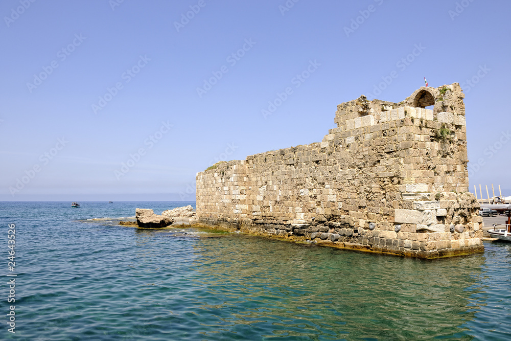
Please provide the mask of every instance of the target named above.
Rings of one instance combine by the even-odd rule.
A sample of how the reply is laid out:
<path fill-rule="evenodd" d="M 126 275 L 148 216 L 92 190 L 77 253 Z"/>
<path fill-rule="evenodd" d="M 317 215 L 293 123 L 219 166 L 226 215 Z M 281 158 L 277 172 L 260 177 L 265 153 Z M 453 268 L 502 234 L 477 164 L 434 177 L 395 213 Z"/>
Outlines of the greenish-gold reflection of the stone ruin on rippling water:
<path fill-rule="evenodd" d="M 419 331 L 428 338 L 468 330 L 461 325 L 475 313 L 466 298 L 476 292 L 471 287 L 485 262 L 481 255 L 425 261 L 250 236 L 195 249 L 195 269 L 209 288 L 201 308 L 224 327 L 311 338 L 410 339 Z"/>

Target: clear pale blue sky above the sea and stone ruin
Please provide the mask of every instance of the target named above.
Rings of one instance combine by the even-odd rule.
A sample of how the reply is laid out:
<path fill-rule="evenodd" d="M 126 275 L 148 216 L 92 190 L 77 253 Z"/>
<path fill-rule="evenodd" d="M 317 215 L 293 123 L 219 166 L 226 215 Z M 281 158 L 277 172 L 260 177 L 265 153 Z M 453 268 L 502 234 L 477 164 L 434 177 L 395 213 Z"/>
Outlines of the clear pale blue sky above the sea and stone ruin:
<path fill-rule="evenodd" d="M 511 189 L 510 2 L 287 4 L 2 1 L 0 200 L 194 200 L 197 172 L 320 142 L 392 71 L 377 98 L 459 82 L 471 190 Z"/>

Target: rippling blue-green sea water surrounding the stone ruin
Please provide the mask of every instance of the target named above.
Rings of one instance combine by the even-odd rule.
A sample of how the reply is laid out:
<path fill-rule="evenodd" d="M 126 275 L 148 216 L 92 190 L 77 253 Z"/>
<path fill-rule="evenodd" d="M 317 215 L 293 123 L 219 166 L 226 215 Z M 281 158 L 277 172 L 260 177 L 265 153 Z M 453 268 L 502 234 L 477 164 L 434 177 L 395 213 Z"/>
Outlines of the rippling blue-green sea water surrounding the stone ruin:
<path fill-rule="evenodd" d="M 419 260 L 87 220 L 183 204 L 0 202 L 5 313 L 17 275 L 16 333 L 2 314 L 0 339 L 511 339 L 511 244 Z"/>

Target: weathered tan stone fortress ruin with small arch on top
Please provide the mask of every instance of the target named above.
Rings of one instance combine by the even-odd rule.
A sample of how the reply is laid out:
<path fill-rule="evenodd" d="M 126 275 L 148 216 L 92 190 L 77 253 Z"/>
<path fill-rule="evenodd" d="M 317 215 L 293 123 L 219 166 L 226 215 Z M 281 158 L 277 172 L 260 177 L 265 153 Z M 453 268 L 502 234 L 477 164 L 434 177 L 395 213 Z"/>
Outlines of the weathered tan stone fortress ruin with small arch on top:
<path fill-rule="evenodd" d="M 482 252 L 463 98 L 453 83 L 399 103 L 360 96 L 339 104 L 337 127 L 320 143 L 197 173 L 198 221 L 394 255 Z"/>

